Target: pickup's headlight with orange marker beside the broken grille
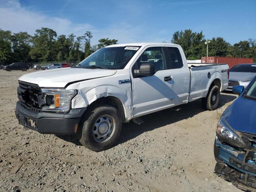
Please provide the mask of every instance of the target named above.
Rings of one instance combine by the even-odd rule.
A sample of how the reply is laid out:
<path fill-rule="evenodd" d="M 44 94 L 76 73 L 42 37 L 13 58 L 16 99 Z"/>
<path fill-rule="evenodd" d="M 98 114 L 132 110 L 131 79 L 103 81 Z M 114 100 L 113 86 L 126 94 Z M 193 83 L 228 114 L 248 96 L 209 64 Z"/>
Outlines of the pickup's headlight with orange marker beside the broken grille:
<path fill-rule="evenodd" d="M 72 98 L 77 94 L 77 90 L 66 89 L 42 89 L 45 96 L 45 105 L 42 111 L 68 112 Z"/>

